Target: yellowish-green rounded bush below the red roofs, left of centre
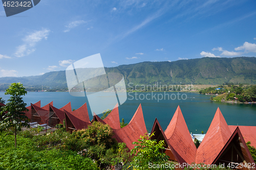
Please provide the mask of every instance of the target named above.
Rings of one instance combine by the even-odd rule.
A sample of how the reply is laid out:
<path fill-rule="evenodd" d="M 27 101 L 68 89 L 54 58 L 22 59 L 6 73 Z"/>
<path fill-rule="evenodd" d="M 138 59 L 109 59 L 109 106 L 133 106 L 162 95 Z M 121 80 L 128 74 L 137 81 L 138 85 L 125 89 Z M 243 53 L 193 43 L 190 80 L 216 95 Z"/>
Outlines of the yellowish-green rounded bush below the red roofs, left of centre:
<path fill-rule="evenodd" d="M 68 149 L 81 152 L 94 159 L 101 168 L 109 168 L 116 157 L 118 143 L 112 136 L 109 125 L 93 122 L 87 129 L 72 133 L 72 138 L 65 142 Z"/>

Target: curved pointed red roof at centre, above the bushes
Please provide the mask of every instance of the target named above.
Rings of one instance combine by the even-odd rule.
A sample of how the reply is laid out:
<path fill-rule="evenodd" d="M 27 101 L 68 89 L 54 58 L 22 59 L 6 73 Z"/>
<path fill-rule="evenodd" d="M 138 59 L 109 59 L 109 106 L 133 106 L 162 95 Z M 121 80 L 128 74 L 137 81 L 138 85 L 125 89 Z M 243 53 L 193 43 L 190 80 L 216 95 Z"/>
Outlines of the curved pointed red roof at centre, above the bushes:
<path fill-rule="evenodd" d="M 140 135 L 147 133 L 141 104 L 127 126 L 120 129 L 113 129 L 113 131 L 118 136 L 118 142 L 126 143 L 129 150 L 133 149 L 135 145 L 132 143 L 138 141 Z"/>

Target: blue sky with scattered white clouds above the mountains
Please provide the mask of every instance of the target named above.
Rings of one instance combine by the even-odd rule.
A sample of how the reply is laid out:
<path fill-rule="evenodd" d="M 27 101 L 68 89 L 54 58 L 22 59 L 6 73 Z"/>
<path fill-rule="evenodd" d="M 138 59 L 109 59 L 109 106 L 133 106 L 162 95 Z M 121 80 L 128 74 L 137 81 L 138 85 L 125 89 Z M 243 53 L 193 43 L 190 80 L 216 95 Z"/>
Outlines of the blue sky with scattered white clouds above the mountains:
<path fill-rule="evenodd" d="M 41 0 L 6 17 L 0 77 L 65 70 L 97 53 L 104 66 L 256 56 L 256 2 Z"/>

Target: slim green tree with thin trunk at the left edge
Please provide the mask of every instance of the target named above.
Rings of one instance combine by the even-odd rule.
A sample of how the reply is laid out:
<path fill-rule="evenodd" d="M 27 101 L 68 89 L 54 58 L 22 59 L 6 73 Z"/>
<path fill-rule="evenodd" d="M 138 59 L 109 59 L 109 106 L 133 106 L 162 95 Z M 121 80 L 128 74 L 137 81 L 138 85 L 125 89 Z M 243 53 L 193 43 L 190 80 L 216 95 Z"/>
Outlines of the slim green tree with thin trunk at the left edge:
<path fill-rule="evenodd" d="M 22 95 L 27 94 L 27 91 L 21 83 L 12 83 L 8 89 L 6 89 L 5 95 L 10 94 L 10 99 L 6 106 L 2 107 L 1 115 L 3 115 L 3 121 L 0 122 L 0 130 L 6 128 L 15 128 L 15 148 L 16 142 L 16 131 L 21 130 L 21 127 L 29 127 L 29 119 L 25 115 L 24 111 L 28 111 L 26 103 L 24 103 Z"/>

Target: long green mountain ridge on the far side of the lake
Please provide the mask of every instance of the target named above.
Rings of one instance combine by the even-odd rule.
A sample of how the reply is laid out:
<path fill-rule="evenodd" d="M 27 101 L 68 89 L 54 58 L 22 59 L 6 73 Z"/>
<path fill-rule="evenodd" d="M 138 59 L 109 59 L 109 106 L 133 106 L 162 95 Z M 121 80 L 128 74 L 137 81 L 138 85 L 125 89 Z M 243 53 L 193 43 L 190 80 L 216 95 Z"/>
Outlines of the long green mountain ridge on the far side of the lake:
<path fill-rule="evenodd" d="M 256 58 L 199 58 L 173 62 L 142 62 L 105 68 L 119 72 L 125 83 L 134 84 L 256 84 Z M 42 76 L 0 78 L 0 90 L 10 83 L 21 82 L 27 87 L 67 88 L 65 71 L 47 72 Z"/>

